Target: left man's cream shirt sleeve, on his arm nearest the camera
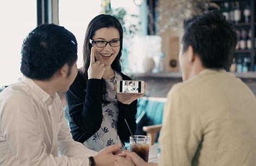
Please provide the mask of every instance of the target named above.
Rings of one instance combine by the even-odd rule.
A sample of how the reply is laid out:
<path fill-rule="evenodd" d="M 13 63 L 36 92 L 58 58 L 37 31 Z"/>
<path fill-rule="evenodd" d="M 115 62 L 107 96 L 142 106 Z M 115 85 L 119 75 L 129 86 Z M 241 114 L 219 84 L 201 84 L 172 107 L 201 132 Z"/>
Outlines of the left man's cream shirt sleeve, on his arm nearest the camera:
<path fill-rule="evenodd" d="M 0 110 L 3 137 L 19 165 L 89 165 L 86 157 L 69 158 L 52 155 L 54 146 L 49 147 L 45 143 L 47 138 L 39 130 L 39 112 L 35 111 L 36 105 L 27 98 L 29 97 L 23 95 L 9 98 L 2 103 L 3 110 Z"/>

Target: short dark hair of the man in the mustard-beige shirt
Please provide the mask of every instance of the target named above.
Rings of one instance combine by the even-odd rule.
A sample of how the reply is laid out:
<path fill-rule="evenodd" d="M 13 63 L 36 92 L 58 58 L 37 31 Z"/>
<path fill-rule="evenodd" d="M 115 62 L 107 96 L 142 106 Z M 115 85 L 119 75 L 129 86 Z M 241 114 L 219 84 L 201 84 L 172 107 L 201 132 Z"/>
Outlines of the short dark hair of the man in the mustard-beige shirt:
<path fill-rule="evenodd" d="M 211 10 L 184 21 L 182 52 L 192 46 L 203 67 L 228 70 L 236 43 L 234 24 L 227 21 L 220 11 Z"/>

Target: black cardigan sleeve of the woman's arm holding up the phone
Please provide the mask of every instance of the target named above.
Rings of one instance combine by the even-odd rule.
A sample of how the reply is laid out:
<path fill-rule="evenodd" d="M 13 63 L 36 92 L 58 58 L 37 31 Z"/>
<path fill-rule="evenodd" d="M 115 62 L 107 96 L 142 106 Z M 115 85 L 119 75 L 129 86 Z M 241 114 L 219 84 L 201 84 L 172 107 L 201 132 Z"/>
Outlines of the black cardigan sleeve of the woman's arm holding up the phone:
<path fill-rule="evenodd" d="M 123 80 L 132 80 L 130 77 L 122 73 Z M 118 101 L 119 115 L 118 115 L 118 135 L 121 141 L 126 141 L 131 136 L 131 133 L 125 123 L 129 124 L 132 134 L 136 131 L 136 113 L 137 113 L 137 100 L 132 101 L 131 104 L 123 104 Z"/>

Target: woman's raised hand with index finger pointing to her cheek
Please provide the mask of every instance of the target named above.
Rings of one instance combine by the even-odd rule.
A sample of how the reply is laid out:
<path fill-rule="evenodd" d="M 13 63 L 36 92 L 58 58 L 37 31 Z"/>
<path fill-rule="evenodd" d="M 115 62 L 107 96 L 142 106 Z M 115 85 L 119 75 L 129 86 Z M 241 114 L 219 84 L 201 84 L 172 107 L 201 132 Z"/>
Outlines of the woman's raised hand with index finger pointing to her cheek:
<path fill-rule="evenodd" d="M 105 64 L 100 61 L 95 62 L 94 47 L 90 53 L 90 66 L 88 68 L 88 79 L 101 79 L 106 70 Z"/>

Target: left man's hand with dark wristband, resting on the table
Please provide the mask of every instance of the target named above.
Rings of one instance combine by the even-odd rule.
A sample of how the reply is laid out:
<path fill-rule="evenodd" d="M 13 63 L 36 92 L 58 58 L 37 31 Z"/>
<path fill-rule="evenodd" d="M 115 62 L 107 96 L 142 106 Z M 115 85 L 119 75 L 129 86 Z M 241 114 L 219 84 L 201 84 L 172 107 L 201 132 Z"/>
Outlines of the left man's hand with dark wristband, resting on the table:
<path fill-rule="evenodd" d="M 96 165 L 108 166 L 114 165 L 115 155 L 121 154 L 121 144 L 111 145 L 105 149 L 102 149 L 99 154 L 94 156 Z"/>

